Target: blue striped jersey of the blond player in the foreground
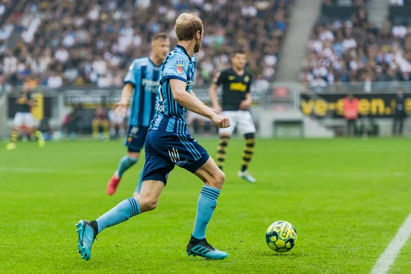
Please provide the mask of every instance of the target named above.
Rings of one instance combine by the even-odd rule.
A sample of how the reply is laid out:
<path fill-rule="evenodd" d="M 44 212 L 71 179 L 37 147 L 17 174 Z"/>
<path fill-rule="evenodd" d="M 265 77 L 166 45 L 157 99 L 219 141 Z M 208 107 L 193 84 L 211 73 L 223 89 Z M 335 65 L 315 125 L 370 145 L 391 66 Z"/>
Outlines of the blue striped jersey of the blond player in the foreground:
<path fill-rule="evenodd" d="M 187 83 L 186 91 L 191 92 L 194 82 L 196 57 L 190 57 L 184 47 L 177 47 L 169 53 L 160 74 L 155 103 L 155 117 L 151 122 L 151 130 L 188 134 L 184 115 L 186 108 L 175 101 L 171 93 L 170 80 L 179 79 Z"/>

